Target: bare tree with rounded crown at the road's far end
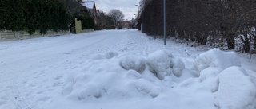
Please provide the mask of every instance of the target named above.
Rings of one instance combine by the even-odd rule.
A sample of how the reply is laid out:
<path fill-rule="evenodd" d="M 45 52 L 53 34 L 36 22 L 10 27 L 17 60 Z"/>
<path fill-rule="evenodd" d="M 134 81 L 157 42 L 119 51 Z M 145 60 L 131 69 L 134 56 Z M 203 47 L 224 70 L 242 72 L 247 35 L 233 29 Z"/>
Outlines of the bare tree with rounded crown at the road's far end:
<path fill-rule="evenodd" d="M 112 18 L 114 25 L 116 26 L 118 26 L 118 21 L 121 21 L 125 17 L 122 11 L 117 9 L 110 10 L 109 16 Z"/>

